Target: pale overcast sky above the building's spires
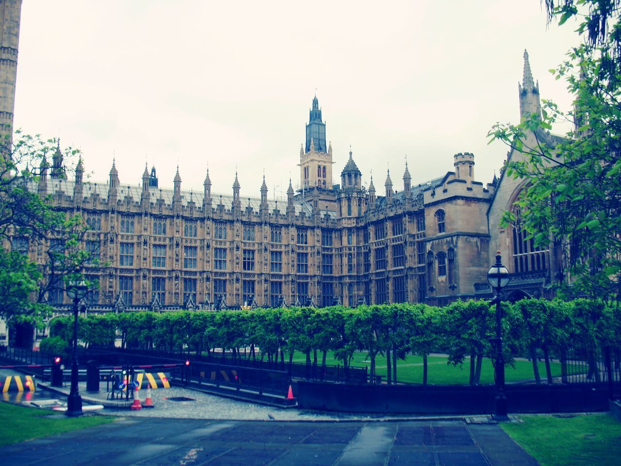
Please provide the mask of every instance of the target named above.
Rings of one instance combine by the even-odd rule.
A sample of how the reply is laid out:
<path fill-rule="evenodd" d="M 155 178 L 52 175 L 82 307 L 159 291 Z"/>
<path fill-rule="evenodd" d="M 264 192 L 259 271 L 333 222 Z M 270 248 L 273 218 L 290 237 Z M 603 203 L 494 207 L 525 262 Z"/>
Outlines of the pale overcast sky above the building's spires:
<path fill-rule="evenodd" d="M 453 170 L 473 152 L 489 182 L 507 148 L 492 124 L 519 122 L 517 84 L 530 54 L 543 98 L 571 104 L 548 72 L 578 42 L 546 29 L 540 0 L 204 1 L 25 0 L 15 126 L 60 136 L 84 154 L 91 180 L 270 197 L 299 184 L 299 148 L 317 88 L 335 183 L 349 147 L 363 180 L 386 167 L 402 189 Z M 564 132 L 563 128 L 556 129 Z"/>

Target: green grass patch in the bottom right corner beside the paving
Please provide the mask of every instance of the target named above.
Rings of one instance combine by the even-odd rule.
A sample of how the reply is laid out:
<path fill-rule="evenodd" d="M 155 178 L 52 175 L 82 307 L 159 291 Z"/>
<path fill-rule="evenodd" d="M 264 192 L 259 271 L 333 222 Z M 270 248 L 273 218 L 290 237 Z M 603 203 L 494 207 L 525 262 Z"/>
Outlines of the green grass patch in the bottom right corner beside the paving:
<path fill-rule="evenodd" d="M 612 466 L 621 458 L 621 423 L 610 414 L 522 416 L 501 424 L 542 466 Z"/>

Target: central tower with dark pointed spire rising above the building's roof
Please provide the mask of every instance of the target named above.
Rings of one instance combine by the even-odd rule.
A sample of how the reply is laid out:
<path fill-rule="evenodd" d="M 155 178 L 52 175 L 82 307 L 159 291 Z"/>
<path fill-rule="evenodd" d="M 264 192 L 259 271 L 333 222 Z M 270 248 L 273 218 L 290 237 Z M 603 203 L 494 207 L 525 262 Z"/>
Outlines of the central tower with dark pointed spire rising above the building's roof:
<path fill-rule="evenodd" d="M 325 144 L 325 123 L 317 96 L 312 99 L 309 124 L 306 125 L 306 150 L 300 147 L 300 186 L 332 189 L 332 145 Z"/>

